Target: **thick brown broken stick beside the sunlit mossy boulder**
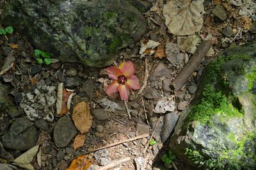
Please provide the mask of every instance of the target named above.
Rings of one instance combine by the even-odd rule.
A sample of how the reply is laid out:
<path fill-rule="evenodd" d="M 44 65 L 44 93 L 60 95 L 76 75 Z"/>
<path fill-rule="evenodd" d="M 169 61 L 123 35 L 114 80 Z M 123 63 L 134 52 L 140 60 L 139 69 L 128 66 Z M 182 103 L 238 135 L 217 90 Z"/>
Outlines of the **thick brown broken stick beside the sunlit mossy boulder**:
<path fill-rule="evenodd" d="M 182 86 L 188 81 L 189 77 L 195 72 L 196 68 L 200 66 L 202 59 L 205 57 L 209 49 L 212 47 L 211 40 L 204 40 L 199 47 L 196 49 L 195 53 L 189 59 L 188 63 L 179 72 L 176 79 L 170 84 L 170 88 L 174 91 L 180 91 Z"/>

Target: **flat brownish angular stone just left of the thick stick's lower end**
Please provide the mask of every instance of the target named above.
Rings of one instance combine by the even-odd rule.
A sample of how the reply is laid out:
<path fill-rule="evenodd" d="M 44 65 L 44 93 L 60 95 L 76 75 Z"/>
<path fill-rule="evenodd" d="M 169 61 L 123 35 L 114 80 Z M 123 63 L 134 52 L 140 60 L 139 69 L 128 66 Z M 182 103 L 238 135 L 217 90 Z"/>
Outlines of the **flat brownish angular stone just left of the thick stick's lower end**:
<path fill-rule="evenodd" d="M 162 61 L 158 63 L 154 71 L 149 75 L 148 79 L 151 82 L 159 81 L 160 78 L 170 79 L 172 71 L 169 70 Z"/>

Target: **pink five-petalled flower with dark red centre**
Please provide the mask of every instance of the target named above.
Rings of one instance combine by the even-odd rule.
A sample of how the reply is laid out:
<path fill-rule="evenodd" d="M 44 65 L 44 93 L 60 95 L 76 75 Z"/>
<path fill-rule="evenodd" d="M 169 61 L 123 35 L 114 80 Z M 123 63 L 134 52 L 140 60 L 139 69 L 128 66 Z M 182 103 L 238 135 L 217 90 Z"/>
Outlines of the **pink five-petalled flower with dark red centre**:
<path fill-rule="evenodd" d="M 119 91 L 121 100 L 128 100 L 129 89 L 140 89 L 139 79 L 135 73 L 132 61 L 122 63 L 118 68 L 109 66 L 106 70 L 113 82 L 105 89 L 107 95 Z"/>

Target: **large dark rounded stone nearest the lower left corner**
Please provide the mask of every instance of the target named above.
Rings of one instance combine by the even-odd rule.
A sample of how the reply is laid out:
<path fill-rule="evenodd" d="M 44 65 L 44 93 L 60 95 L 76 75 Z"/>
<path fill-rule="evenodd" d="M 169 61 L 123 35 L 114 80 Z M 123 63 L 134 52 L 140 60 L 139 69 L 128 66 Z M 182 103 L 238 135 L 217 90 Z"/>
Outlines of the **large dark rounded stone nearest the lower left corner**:
<path fill-rule="evenodd" d="M 4 148 L 26 151 L 36 145 L 36 128 L 27 118 L 17 118 L 7 134 L 3 135 Z"/>

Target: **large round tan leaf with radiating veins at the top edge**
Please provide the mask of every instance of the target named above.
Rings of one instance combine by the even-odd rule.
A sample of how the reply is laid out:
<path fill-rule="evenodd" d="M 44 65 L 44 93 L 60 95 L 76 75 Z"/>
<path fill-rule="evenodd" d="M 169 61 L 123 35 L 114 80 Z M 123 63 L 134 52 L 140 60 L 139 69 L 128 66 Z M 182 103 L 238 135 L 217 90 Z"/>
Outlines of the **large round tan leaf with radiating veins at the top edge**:
<path fill-rule="evenodd" d="M 164 5 L 165 24 L 173 35 L 194 35 L 204 20 L 204 0 L 172 0 Z"/>

